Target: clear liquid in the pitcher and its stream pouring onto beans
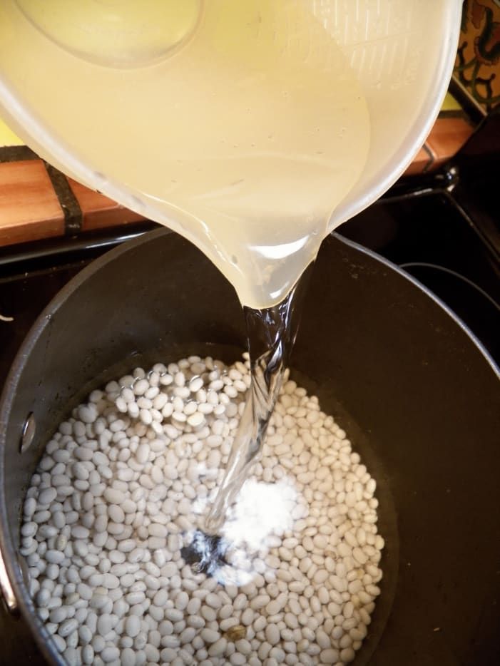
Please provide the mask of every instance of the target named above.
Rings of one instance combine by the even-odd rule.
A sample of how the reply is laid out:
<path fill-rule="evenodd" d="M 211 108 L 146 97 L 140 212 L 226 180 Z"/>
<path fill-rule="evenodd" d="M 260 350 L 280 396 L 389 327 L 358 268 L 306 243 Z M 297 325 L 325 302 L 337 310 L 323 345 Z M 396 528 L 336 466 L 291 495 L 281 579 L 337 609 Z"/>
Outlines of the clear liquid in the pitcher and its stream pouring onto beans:
<path fill-rule="evenodd" d="M 0 9 L 0 21 L 15 28 L 7 21 L 4 34 L 0 29 L 0 58 L 6 62 L 4 49 L 13 79 L 28 79 L 31 103 L 52 104 L 62 135 L 85 136 L 83 162 L 98 164 L 103 181 L 124 184 L 136 209 L 167 226 L 175 220 L 174 228 L 215 263 L 245 307 L 252 387 L 208 518 L 208 530 L 216 531 L 260 450 L 280 389 L 294 338 L 295 286 L 315 259 L 332 210 L 364 168 L 367 103 L 342 51 L 314 16 L 313 0 L 195 2 L 195 29 L 193 2 L 183 14 L 180 0 L 172 1 L 169 20 L 176 6 L 179 16 L 188 16 L 178 19 L 187 26 L 185 35 L 179 32 L 182 46 L 150 66 L 122 69 L 103 66 L 111 57 L 104 51 L 98 64 L 85 55 L 65 58 L 65 42 L 74 35 L 68 28 L 65 39 L 64 21 L 58 39 L 47 39 L 26 21 L 39 5 L 17 4 L 26 15 L 11 0 L 14 18 L 2 19 Z M 61 1 L 52 4 L 66 11 Z M 105 4 L 94 6 L 101 11 Z M 40 56 L 29 63 L 17 37 L 21 29 Z M 85 51 L 85 44 L 79 48 Z M 56 76 L 48 71 L 78 81 L 79 96 L 60 105 Z M 93 100 L 101 105 L 98 123 Z"/>

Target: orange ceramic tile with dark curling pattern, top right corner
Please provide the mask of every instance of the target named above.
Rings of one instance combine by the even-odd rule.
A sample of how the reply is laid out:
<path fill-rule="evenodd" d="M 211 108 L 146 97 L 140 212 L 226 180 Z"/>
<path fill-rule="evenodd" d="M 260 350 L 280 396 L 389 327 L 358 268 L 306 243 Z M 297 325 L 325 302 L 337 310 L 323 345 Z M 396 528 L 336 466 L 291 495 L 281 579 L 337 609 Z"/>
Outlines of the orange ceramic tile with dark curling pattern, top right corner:
<path fill-rule="evenodd" d="M 464 0 L 454 76 L 484 111 L 500 102 L 500 0 Z"/>

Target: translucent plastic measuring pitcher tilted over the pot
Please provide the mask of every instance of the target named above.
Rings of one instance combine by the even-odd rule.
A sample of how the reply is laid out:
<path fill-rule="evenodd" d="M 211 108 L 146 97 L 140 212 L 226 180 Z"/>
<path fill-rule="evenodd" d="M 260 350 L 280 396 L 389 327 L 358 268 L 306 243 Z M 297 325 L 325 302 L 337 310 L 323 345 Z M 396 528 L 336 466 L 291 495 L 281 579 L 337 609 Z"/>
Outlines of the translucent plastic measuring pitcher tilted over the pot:
<path fill-rule="evenodd" d="M 321 171 L 324 156 L 318 150 L 325 139 L 316 142 L 314 155 L 297 148 L 293 164 L 289 151 L 285 163 L 277 140 L 280 130 L 286 125 L 286 140 L 302 141 L 307 133 L 300 114 L 309 123 L 312 108 L 328 128 L 330 104 L 341 113 L 343 97 L 356 95 L 350 83 L 345 89 L 342 83 L 342 71 L 352 73 L 366 101 L 369 148 L 360 174 L 342 196 L 337 193 L 335 208 L 318 227 L 318 235 L 325 235 L 387 190 L 424 143 L 447 91 L 460 16 L 461 0 L 4 0 L 0 115 L 49 163 L 195 242 L 241 298 L 238 271 L 242 266 L 250 270 L 255 262 L 250 257 L 245 265 L 244 257 L 237 257 L 221 239 L 230 233 L 238 205 L 255 208 L 260 190 L 262 197 L 269 195 L 269 179 L 259 165 L 275 160 L 273 173 L 282 173 L 282 166 L 287 169 L 290 179 L 280 205 L 282 219 L 293 220 L 293 225 L 307 217 L 301 191 L 317 187 L 318 198 L 330 196 Z M 290 53 L 291 68 L 276 70 L 275 78 L 267 80 L 266 68 Z M 320 76 L 317 88 L 310 88 L 318 96 L 307 93 L 311 108 L 300 96 L 307 88 L 302 66 Z M 302 72 L 300 84 L 294 83 L 293 67 L 297 77 Z M 330 69 L 337 76 L 331 89 Z M 286 85 L 295 85 L 295 102 L 288 107 L 280 106 L 288 94 L 280 76 L 288 76 Z M 260 92 L 272 88 L 265 91 L 272 103 L 248 103 L 247 108 L 249 86 Z M 296 114 L 293 122 L 287 108 Z M 273 115 L 274 129 L 252 141 L 252 132 L 258 135 Z M 344 125 L 349 125 L 348 118 Z M 310 129 L 314 133 L 315 127 Z M 345 126 L 331 133 L 337 129 L 342 135 Z M 183 143 L 179 137 L 190 135 L 197 137 L 198 150 L 190 145 L 183 152 L 185 139 Z M 240 139 L 248 140 L 248 154 Z M 355 133 L 346 139 L 346 154 L 349 144 L 354 150 L 356 139 Z M 200 188 L 185 199 L 186 205 L 181 195 L 183 183 L 198 178 L 203 184 L 203 178 L 223 173 L 215 143 L 224 155 L 226 179 L 221 176 L 210 185 L 223 202 L 217 210 L 219 234 L 210 228 L 210 215 L 204 215 L 213 205 L 212 193 L 208 196 Z M 229 143 L 235 155 L 228 152 Z M 240 177 L 238 168 L 254 149 L 267 162 L 254 160 L 252 178 L 246 172 Z M 312 174 L 307 183 L 302 178 L 306 163 Z M 337 172 L 342 180 L 342 168 Z M 320 192 L 321 179 L 327 185 Z M 156 190 L 149 188 L 155 180 Z M 330 180 L 333 192 L 335 178 Z M 235 193 L 240 198 L 233 215 Z M 201 212 L 193 223 L 196 205 Z M 252 224 L 258 215 L 265 219 L 274 210 L 255 208 Z M 312 226 L 307 233 L 314 235 Z M 282 245 L 293 250 L 301 242 L 290 235 Z M 268 254 L 270 261 L 280 261 L 275 250 Z M 304 265 L 311 254 L 305 255 Z M 259 298 L 249 294 L 247 304 L 253 299 L 255 305 Z"/>

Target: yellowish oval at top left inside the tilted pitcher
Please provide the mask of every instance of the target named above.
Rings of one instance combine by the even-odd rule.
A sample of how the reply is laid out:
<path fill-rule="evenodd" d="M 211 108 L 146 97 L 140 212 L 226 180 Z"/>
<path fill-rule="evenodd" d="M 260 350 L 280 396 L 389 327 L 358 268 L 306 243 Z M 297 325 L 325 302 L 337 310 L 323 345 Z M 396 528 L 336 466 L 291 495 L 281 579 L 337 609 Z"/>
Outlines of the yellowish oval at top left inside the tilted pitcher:
<path fill-rule="evenodd" d="M 200 0 L 16 0 L 42 34 L 73 56 L 106 67 L 160 61 L 195 31 Z"/>

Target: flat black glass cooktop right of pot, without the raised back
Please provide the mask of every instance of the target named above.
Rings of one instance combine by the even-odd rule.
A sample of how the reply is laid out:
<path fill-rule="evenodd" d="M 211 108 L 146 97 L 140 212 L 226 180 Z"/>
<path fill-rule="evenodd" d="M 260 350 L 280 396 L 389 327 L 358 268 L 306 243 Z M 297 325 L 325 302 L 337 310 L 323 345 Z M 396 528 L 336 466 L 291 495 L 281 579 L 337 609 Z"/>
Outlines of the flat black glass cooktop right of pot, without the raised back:
<path fill-rule="evenodd" d="M 381 200 L 339 231 L 422 282 L 500 364 L 500 260 L 447 192 Z"/>

